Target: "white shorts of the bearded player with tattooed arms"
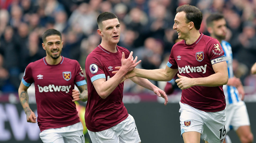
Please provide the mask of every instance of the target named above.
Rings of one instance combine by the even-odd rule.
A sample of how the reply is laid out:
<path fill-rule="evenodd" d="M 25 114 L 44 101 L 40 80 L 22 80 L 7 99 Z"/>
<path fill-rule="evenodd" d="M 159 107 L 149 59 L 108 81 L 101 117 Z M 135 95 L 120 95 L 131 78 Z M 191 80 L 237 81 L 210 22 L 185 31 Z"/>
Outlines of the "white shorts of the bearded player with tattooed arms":
<path fill-rule="evenodd" d="M 81 122 L 60 127 L 49 128 L 39 134 L 44 143 L 84 143 L 83 125 Z"/>

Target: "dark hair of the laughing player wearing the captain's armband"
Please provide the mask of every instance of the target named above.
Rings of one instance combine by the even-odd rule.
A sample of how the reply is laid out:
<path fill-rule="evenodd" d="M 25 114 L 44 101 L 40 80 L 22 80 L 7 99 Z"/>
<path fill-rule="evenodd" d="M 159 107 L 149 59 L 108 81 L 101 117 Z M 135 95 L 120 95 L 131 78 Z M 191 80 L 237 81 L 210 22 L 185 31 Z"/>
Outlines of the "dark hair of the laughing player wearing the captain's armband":
<path fill-rule="evenodd" d="M 194 22 L 196 30 L 199 30 L 203 19 L 203 13 L 199 10 L 199 8 L 191 5 L 182 5 L 177 7 L 176 14 L 182 11 L 186 13 L 186 23 Z"/>

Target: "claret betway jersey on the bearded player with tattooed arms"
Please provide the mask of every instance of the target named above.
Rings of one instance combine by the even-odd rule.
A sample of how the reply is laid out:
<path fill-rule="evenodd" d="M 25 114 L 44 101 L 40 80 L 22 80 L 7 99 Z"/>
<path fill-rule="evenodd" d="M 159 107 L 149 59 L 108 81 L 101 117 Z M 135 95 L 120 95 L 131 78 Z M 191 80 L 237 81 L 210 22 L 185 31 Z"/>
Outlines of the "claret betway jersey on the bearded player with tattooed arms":
<path fill-rule="evenodd" d="M 76 60 L 62 56 L 57 65 L 49 65 L 45 57 L 28 64 L 22 82 L 35 84 L 37 122 L 41 131 L 78 123 L 76 105 L 72 102 L 74 84 L 86 84 L 82 68 Z"/>

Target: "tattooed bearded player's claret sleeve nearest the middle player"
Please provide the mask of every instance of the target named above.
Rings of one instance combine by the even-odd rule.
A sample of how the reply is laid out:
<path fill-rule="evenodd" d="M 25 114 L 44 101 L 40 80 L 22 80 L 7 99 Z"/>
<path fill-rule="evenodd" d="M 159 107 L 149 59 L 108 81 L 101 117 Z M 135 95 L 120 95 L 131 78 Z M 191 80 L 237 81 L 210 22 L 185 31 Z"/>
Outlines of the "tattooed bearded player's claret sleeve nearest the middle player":
<path fill-rule="evenodd" d="M 86 83 L 86 80 L 84 79 L 84 74 L 83 74 L 83 69 L 80 66 L 80 64 L 78 63 L 78 61 L 75 60 L 75 67 L 76 68 L 76 77 L 75 77 L 75 83 L 77 86 L 81 86 Z"/>

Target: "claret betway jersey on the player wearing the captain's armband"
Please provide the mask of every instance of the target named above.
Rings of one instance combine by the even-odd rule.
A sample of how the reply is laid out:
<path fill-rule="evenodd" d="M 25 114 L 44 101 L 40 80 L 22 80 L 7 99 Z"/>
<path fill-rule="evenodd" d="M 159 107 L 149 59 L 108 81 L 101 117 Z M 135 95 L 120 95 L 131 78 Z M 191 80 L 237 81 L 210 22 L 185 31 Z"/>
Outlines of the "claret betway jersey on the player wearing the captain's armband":
<path fill-rule="evenodd" d="M 177 42 L 171 50 L 167 66 L 178 68 L 178 73 L 182 76 L 199 78 L 215 74 L 212 65 L 223 61 L 226 62 L 219 41 L 201 33 L 191 45 L 187 45 L 185 40 Z M 221 111 L 226 107 L 222 85 L 184 89 L 180 102 L 207 112 Z"/>

